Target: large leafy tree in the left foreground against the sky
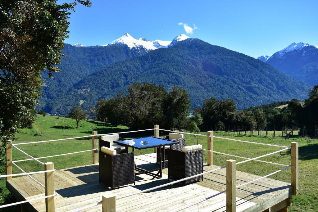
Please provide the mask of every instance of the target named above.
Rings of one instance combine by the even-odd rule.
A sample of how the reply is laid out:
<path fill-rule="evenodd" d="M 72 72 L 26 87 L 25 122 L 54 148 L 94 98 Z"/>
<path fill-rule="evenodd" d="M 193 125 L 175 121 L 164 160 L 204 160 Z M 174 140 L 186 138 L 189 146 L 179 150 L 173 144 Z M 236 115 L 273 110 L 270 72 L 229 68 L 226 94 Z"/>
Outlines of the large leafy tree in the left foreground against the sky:
<path fill-rule="evenodd" d="M 90 6 L 89 0 L 77 2 Z M 40 97 L 40 72 L 59 72 L 68 19 L 76 2 L 56 0 L 0 0 L 0 167 L 3 171 L 6 140 L 17 128 L 34 120 Z"/>

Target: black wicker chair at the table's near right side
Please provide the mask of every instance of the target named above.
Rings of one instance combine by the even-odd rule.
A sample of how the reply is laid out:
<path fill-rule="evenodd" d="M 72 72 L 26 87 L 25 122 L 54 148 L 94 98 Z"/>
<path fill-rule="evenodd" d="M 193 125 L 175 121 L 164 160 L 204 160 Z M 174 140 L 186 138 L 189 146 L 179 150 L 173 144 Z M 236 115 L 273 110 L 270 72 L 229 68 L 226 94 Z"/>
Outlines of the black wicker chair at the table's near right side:
<path fill-rule="evenodd" d="M 203 149 L 188 152 L 168 149 L 168 179 L 180 180 L 203 173 Z M 203 181 L 203 175 L 183 181 L 187 185 L 196 181 Z"/>

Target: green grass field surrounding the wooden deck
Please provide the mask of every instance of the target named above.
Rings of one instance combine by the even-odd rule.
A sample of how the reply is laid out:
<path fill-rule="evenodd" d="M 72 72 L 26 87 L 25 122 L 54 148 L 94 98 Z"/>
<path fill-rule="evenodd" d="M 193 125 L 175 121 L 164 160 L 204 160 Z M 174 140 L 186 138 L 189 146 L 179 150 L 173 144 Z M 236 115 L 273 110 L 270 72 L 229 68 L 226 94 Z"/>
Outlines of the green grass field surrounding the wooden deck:
<path fill-rule="evenodd" d="M 153 126 L 149 126 L 153 128 Z M 37 116 L 37 121 L 33 124 L 32 129 L 20 129 L 20 133 L 17 133 L 17 140 L 13 143 L 22 143 L 39 140 L 53 140 L 61 138 L 71 138 L 90 135 L 92 130 L 97 130 L 99 134 L 102 133 L 114 133 L 128 131 L 127 127 L 118 126 L 113 127 L 107 123 L 99 121 L 81 121 L 79 128 L 76 128 L 75 120 L 54 116 Z M 161 132 L 162 133 L 162 132 Z M 281 132 L 280 132 L 281 133 Z M 162 135 L 166 135 L 162 134 Z M 201 132 L 206 134 L 206 132 Z M 247 133 L 249 135 L 249 132 Z M 136 138 L 142 136 L 153 135 L 153 131 L 145 133 L 129 133 L 121 134 L 121 138 Z M 290 142 L 299 143 L 299 195 L 293 196 L 293 205 L 289 208 L 291 211 L 318 211 L 318 140 L 307 140 L 297 138 L 294 134 L 293 138 L 285 139 L 279 137 L 281 134 L 278 131 L 275 133 L 277 137 L 273 138 L 273 135 L 269 132 L 269 137 L 257 136 L 257 132 L 254 132 L 254 136 L 237 133 L 214 133 L 215 136 L 222 136 L 227 138 L 234 138 L 239 140 L 248 140 L 268 144 L 277 144 L 283 146 L 290 146 Z M 193 136 L 185 135 L 186 145 L 193 144 Z M 198 143 L 203 145 L 203 148 L 207 148 L 207 137 L 198 137 Z M 195 144 L 197 144 L 197 137 L 195 137 Z M 76 139 L 76 140 L 64 140 L 44 142 L 38 144 L 26 144 L 18 146 L 33 157 L 49 156 L 56 154 L 64 154 L 70 152 L 77 152 L 92 148 L 91 138 L 88 139 Z M 267 154 L 279 150 L 278 147 L 270 147 L 264 145 L 255 145 L 249 143 L 235 142 L 230 140 L 214 139 L 214 150 L 218 152 L 224 152 L 228 154 L 234 154 L 245 157 L 256 157 L 259 155 Z M 153 149 L 136 150 L 135 154 L 152 153 Z M 12 148 L 13 160 L 28 159 L 28 157 L 16 149 Z M 204 161 L 206 162 L 207 153 L 204 153 Z M 228 159 L 236 159 L 242 161 L 243 159 L 232 158 L 225 155 L 214 154 L 214 163 L 218 166 L 225 165 L 225 161 Z M 261 160 L 278 162 L 283 164 L 290 164 L 290 151 L 282 152 L 281 154 L 275 154 L 262 158 Z M 56 169 L 69 168 L 74 166 L 80 166 L 84 164 L 92 163 L 92 153 L 80 153 L 66 156 L 59 156 L 53 158 L 47 158 L 41 160 L 42 162 L 53 162 Z M 18 165 L 25 171 L 40 171 L 43 170 L 43 166 L 34 161 L 19 162 Z M 277 165 L 250 161 L 247 163 L 239 164 L 237 169 L 239 171 L 249 172 L 252 174 L 266 175 L 272 173 L 282 167 Z M 13 173 L 19 173 L 17 168 L 13 168 Z M 284 170 L 277 175 L 272 175 L 271 178 L 290 182 L 290 168 Z M 5 181 L 1 180 L 1 186 L 5 186 Z M 9 192 L 6 190 L 5 198 L 6 203 L 14 201 L 10 198 Z"/>

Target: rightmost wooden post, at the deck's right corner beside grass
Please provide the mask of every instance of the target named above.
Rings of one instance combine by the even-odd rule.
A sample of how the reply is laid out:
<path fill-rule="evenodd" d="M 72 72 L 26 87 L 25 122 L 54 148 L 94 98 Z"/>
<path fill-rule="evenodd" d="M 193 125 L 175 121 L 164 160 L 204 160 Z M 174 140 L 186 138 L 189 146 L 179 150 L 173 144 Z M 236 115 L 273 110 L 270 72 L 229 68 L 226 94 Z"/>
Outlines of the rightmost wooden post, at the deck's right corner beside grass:
<path fill-rule="evenodd" d="M 293 195 L 298 192 L 298 143 L 291 143 L 290 160 L 291 160 L 291 180 L 293 185 Z"/>

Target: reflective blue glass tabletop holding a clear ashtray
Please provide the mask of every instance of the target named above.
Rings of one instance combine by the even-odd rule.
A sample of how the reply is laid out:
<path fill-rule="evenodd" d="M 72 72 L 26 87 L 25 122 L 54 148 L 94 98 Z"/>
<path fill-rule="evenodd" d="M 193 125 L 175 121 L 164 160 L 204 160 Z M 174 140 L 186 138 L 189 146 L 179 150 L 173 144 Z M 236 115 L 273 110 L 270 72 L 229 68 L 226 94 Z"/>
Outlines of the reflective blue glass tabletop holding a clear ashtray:
<path fill-rule="evenodd" d="M 150 147 L 159 147 L 159 146 L 179 143 L 179 142 L 174 142 L 171 140 L 155 138 L 155 137 L 144 137 L 144 138 L 136 138 L 136 139 L 130 139 L 130 140 L 118 140 L 114 142 L 125 147 L 132 147 L 136 149 L 146 149 Z"/>

